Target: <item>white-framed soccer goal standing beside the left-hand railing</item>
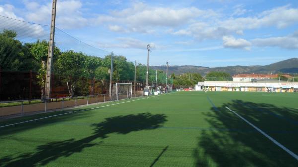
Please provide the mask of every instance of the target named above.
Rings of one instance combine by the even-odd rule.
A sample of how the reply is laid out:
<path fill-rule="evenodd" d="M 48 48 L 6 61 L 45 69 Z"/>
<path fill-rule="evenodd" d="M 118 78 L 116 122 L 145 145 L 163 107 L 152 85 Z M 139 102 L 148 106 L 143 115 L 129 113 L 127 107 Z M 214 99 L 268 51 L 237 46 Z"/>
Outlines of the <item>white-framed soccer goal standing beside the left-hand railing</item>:
<path fill-rule="evenodd" d="M 121 100 L 132 97 L 132 83 L 115 83 L 113 84 L 112 99 Z"/>

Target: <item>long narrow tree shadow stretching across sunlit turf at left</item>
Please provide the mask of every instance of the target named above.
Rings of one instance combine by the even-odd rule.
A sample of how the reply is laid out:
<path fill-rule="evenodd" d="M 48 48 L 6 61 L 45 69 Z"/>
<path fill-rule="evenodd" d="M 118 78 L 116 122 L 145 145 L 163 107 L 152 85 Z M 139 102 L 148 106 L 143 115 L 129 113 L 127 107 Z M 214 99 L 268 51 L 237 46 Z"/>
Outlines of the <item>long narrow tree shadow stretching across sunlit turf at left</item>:
<path fill-rule="evenodd" d="M 134 131 L 151 130 L 161 127 L 166 122 L 164 114 L 140 113 L 106 118 L 103 122 L 93 124 L 94 133 L 80 140 L 64 140 L 40 145 L 34 153 L 22 154 L 18 157 L 7 156 L 1 159 L 0 167 L 35 167 L 44 166 L 60 157 L 68 157 L 83 149 L 100 145 L 97 138 L 107 138 L 108 134 L 128 134 Z"/>

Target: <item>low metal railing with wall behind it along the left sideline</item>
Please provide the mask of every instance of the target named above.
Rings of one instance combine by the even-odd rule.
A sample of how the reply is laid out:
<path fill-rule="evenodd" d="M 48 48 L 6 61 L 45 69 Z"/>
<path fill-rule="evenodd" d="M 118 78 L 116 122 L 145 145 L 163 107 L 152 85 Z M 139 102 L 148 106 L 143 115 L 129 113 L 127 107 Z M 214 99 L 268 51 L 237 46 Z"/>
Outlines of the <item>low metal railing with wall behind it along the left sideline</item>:
<path fill-rule="evenodd" d="M 142 97 L 143 91 L 136 91 L 132 95 L 118 93 L 118 100 Z M 77 108 L 90 104 L 99 104 L 110 102 L 109 94 L 97 94 L 76 97 L 59 97 L 48 99 L 30 99 L 0 102 L 0 118 L 7 116 L 26 115 L 34 113 L 44 113 L 50 111 L 64 111 L 66 109 Z M 112 97 L 112 101 L 116 101 Z"/>

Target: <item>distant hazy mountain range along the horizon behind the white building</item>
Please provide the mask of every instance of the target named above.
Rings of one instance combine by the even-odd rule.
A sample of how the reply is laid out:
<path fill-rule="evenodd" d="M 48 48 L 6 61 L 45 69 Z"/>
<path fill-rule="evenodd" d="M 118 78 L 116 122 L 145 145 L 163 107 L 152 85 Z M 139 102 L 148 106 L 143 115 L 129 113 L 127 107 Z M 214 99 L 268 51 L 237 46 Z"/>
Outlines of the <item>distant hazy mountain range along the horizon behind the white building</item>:
<path fill-rule="evenodd" d="M 150 66 L 151 69 L 159 69 L 166 71 L 166 66 Z M 253 66 L 226 66 L 226 67 L 202 67 L 193 65 L 182 65 L 182 66 L 170 66 L 169 75 L 172 73 L 183 74 L 187 72 L 200 73 L 201 75 L 206 75 L 210 71 L 221 71 L 227 72 L 231 75 L 234 74 L 250 74 L 250 73 L 260 73 L 260 74 L 270 74 L 270 73 L 298 73 L 298 58 L 291 58 L 284 61 L 276 62 L 269 65 L 253 65 Z"/>

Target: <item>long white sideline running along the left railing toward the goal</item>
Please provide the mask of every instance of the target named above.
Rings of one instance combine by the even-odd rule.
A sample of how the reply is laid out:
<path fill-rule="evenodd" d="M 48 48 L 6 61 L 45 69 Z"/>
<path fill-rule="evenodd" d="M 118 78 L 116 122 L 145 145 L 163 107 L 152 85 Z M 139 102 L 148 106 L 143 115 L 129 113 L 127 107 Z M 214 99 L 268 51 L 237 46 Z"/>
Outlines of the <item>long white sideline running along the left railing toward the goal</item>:
<path fill-rule="evenodd" d="M 163 95 L 168 95 L 168 94 L 163 94 Z M 159 96 L 161 96 L 161 95 L 159 95 Z M 118 104 L 121 104 L 121 103 L 127 103 L 127 102 L 133 102 L 133 101 L 137 101 L 137 100 L 142 100 L 142 99 L 153 98 L 153 97 L 158 97 L 158 96 L 150 96 L 150 97 L 146 97 L 146 98 L 135 99 L 135 100 L 130 100 L 130 101 L 126 101 L 126 102 L 120 102 L 120 103 L 114 103 L 114 104 L 110 104 L 110 105 L 99 106 L 99 107 L 94 107 L 94 108 L 84 109 L 84 110 L 79 110 L 79 111 L 92 110 L 92 109 L 97 109 L 97 108 L 102 108 L 102 107 L 107 107 L 107 106 L 112 106 L 112 105 L 118 105 Z M 60 116 L 60 115 L 66 115 L 66 114 L 70 114 L 70 113 L 74 113 L 74 112 L 79 112 L 79 111 L 67 112 L 67 113 L 62 113 L 62 114 L 58 114 L 58 115 L 52 115 L 52 116 L 47 116 L 47 117 L 43 117 L 43 118 L 32 119 L 32 120 L 27 120 L 27 121 L 23 121 L 23 122 L 8 124 L 8 125 L 0 126 L 0 128 L 8 127 L 8 126 L 13 126 L 13 125 L 18 125 L 18 124 L 27 123 L 27 122 L 33 122 L 33 121 L 36 121 L 36 120 L 51 118 L 51 117 Z"/>

